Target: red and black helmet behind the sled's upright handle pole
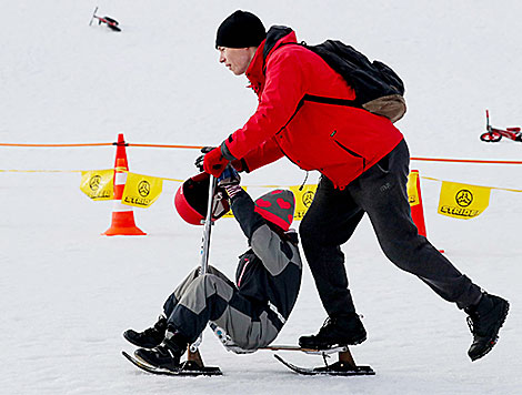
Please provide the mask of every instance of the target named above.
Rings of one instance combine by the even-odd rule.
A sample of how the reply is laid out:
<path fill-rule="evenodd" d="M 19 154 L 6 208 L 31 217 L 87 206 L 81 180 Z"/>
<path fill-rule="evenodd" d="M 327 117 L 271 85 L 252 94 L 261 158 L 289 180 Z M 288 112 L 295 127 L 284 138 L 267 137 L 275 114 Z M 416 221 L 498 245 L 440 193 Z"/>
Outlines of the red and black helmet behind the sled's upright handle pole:
<path fill-rule="evenodd" d="M 192 225 L 201 225 L 207 216 L 209 201 L 210 175 L 200 173 L 183 182 L 174 196 L 174 206 L 178 214 Z M 215 186 L 214 210 L 212 221 L 219 220 L 230 210 L 230 204 L 223 189 Z"/>

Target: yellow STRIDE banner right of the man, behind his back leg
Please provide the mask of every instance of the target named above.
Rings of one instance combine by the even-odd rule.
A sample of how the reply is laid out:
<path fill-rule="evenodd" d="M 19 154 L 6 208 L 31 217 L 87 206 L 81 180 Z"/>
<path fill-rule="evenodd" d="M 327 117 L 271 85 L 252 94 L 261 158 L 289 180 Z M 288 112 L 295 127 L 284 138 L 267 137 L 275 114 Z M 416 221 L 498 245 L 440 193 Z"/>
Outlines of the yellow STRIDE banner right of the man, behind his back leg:
<path fill-rule="evenodd" d="M 439 214 L 469 220 L 480 215 L 490 204 L 491 188 L 442 181 Z"/>

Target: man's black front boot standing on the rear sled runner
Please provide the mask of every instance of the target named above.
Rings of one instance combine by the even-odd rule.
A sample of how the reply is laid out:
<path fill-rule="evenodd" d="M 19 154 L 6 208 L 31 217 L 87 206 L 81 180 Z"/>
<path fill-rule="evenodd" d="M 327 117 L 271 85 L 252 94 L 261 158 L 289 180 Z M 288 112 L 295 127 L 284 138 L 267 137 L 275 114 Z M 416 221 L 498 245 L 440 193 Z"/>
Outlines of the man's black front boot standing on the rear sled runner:
<path fill-rule="evenodd" d="M 303 348 L 329 350 L 335 346 L 355 345 L 367 340 L 367 331 L 355 313 L 328 318 L 317 335 L 299 337 Z"/>

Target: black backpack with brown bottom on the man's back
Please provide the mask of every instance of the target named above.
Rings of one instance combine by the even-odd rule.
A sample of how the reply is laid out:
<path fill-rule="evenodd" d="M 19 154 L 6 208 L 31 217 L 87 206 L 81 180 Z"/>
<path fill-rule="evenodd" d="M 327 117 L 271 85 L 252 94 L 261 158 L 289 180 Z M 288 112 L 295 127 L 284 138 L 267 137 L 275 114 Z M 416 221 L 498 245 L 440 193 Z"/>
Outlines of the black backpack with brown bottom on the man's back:
<path fill-rule="evenodd" d="M 281 47 L 287 44 L 292 43 Z M 307 94 L 304 101 L 360 108 L 392 122 L 399 121 L 406 112 L 404 83 L 387 64 L 378 60 L 370 62 L 353 47 L 337 40 L 327 40 L 318 45 L 308 45 L 304 42 L 293 44 L 319 54 L 355 91 L 355 100 Z"/>

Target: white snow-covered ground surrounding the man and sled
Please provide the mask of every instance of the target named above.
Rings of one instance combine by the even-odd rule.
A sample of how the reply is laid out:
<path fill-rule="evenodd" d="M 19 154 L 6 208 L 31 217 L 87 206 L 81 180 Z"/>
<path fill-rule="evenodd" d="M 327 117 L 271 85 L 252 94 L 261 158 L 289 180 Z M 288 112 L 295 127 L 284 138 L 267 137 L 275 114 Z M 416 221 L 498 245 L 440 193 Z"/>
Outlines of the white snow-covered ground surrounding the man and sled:
<path fill-rule="evenodd" d="M 99 14 L 123 31 L 88 26 Z M 235 9 L 300 40 L 341 39 L 391 64 L 406 84 L 398 125 L 412 156 L 520 160 L 512 141 L 485 144 L 495 126 L 520 125 L 520 1 L 37 1 L 2 3 L 0 142 L 218 144 L 255 108 L 244 77 L 218 62 L 219 23 Z M 194 150 L 129 148 L 131 171 L 187 179 Z M 94 170 L 113 148 L 0 148 L 0 170 Z M 521 189 L 520 165 L 412 162 L 421 175 Z M 244 175 L 247 185 L 295 185 L 289 161 Z M 465 314 L 381 253 L 365 220 L 343 247 L 369 340 L 352 348 L 373 377 L 303 377 L 269 352 L 227 353 L 210 332 L 203 359 L 222 377 L 169 378 L 138 372 L 120 355 L 121 333 L 155 321 L 163 300 L 199 263 L 201 227 L 172 209 L 175 182 L 149 210 L 135 210 L 145 237 L 106 237 L 111 202 L 96 203 L 73 172 L 0 173 L 1 394 L 521 394 L 520 219 L 522 195 L 493 191 L 470 221 L 436 214 L 440 183 L 422 180 L 429 237 L 485 290 L 511 302 L 491 354 L 471 363 Z M 317 180 L 317 174 L 311 175 Z M 251 188 L 253 195 L 264 192 Z M 211 263 L 230 276 L 245 247 L 233 220 L 214 227 Z M 277 343 L 314 333 L 325 314 L 308 267 L 298 304 Z M 520 331 L 519 331 L 520 335 Z M 299 365 L 321 358 L 283 355 Z"/>

